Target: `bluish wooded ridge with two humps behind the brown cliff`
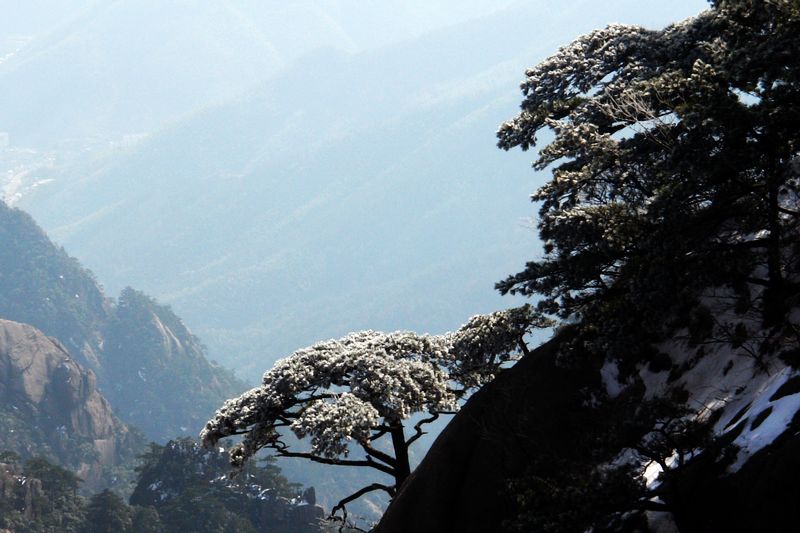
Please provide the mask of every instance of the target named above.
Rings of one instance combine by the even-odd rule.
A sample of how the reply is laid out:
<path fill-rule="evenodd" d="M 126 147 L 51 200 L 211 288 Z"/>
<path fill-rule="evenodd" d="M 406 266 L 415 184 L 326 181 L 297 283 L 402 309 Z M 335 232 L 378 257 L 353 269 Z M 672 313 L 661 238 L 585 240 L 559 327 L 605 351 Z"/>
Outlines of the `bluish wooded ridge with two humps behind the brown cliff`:
<path fill-rule="evenodd" d="M 30 216 L 0 202 L 0 318 L 52 335 L 92 368 L 123 420 L 150 439 L 196 435 L 244 385 L 210 363 L 183 322 L 146 295 L 109 300 Z"/>

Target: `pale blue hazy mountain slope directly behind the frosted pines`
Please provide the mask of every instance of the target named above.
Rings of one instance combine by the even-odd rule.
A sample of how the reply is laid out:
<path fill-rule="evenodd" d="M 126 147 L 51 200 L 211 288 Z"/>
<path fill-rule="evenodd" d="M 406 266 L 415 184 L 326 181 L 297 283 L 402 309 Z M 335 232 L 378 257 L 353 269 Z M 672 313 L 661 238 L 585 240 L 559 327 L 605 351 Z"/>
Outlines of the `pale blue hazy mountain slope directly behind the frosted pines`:
<path fill-rule="evenodd" d="M 451 329 L 504 305 L 492 285 L 530 247 L 530 156 L 494 148 L 517 106 L 507 87 L 565 31 L 636 5 L 521 3 L 390 48 L 320 51 L 23 205 L 111 287 L 170 302 L 251 376 L 350 330 Z"/>

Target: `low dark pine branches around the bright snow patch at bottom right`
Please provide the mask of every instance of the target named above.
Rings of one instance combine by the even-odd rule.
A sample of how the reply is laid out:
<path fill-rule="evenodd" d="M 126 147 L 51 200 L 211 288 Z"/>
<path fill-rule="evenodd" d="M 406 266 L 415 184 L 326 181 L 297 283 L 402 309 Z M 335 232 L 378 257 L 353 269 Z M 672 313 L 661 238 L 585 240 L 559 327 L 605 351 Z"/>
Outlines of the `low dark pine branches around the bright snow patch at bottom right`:
<path fill-rule="evenodd" d="M 506 530 L 634 532 L 643 530 L 645 511 L 674 510 L 680 496 L 676 491 L 683 486 L 680 482 L 693 464 L 695 450 L 713 450 L 708 453 L 714 457 L 723 450 L 730 453 L 730 447 L 712 437 L 716 419 L 685 418 L 689 411 L 679 396 L 644 401 L 641 388 L 633 386 L 596 407 L 573 407 L 568 412 L 551 407 L 539 415 L 560 418 L 563 426 L 574 425 L 573 440 L 538 438 L 526 472 L 508 483 L 517 511 L 505 522 Z M 619 455 L 623 449 L 627 456 Z M 664 472 L 654 490 L 647 489 L 641 477 L 641 464 L 650 461 Z M 663 503 L 654 502 L 656 496 Z"/>

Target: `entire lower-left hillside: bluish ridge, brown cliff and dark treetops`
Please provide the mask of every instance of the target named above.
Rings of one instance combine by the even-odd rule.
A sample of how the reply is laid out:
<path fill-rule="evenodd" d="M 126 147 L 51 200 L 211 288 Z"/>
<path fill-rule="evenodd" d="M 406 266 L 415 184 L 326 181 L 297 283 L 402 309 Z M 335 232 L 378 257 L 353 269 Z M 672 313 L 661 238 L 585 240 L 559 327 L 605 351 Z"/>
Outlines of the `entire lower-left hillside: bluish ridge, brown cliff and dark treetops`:
<path fill-rule="evenodd" d="M 278 467 L 229 479 L 223 449 L 170 440 L 196 434 L 244 386 L 169 307 L 131 288 L 107 299 L 2 203 L 0 264 L 0 529 L 320 531 L 313 489 L 303 499 Z M 169 443 L 147 451 L 147 439 Z"/>

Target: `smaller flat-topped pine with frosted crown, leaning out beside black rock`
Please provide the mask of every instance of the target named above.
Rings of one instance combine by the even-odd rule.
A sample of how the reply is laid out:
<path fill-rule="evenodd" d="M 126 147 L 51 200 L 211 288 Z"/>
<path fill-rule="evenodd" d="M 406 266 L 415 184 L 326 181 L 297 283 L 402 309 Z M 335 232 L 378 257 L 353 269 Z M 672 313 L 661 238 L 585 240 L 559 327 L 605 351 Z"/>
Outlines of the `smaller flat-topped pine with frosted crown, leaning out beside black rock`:
<path fill-rule="evenodd" d="M 394 494 L 410 473 L 408 446 L 422 436 L 422 425 L 457 410 L 466 393 L 527 353 L 526 333 L 550 325 L 525 305 L 473 317 L 444 335 L 360 331 L 319 342 L 278 361 L 260 387 L 225 402 L 201 437 L 213 446 L 244 435 L 231 452 L 235 465 L 270 448 L 279 456 L 369 466 L 394 476 L 396 484 L 366 489 Z M 406 436 L 403 423 L 416 413 L 428 418 Z M 310 437 L 310 450 L 290 450 L 282 440 L 287 430 Z M 384 436 L 394 455 L 376 447 Z M 350 458 L 354 444 L 362 459 Z"/>

